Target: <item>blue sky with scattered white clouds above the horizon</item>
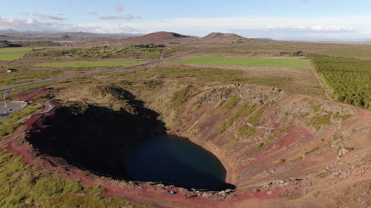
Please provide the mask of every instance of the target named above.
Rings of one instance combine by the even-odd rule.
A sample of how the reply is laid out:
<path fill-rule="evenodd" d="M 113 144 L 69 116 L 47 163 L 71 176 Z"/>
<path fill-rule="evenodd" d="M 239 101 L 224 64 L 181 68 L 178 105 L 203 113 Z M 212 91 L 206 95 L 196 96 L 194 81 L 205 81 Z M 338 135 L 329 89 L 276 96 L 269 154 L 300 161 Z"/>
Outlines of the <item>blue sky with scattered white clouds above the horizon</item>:
<path fill-rule="evenodd" d="M 371 38 L 371 1 L 18 0 L 3 4 L 0 29 L 151 33 L 210 32 L 276 39 Z"/>

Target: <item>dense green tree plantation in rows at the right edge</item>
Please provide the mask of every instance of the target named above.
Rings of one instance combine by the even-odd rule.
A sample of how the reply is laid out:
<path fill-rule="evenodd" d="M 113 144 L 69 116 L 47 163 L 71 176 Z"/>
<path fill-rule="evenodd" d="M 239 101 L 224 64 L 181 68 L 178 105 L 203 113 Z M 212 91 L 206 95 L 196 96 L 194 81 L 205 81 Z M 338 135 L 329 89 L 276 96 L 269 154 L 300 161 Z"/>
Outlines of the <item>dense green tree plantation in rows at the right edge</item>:
<path fill-rule="evenodd" d="M 309 56 L 337 101 L 371 110 L 371 60 Z"/>

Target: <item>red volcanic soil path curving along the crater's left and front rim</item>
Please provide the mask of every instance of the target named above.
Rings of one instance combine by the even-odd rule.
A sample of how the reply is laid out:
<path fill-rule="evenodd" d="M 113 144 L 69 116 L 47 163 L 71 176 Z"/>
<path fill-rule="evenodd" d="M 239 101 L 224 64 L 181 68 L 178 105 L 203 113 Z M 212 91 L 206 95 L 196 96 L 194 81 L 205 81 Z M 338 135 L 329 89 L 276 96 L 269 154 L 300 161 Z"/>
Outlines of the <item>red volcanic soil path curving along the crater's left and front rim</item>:
<path fill-rule="evenodd" d="M 31 145 L 28 142 L 20 142 L 23 139 L 25 132 L 38 131 L 43 128 L 43 119 L 53 116 L 55 112 L 51 114 L 34 114 L 29 118 L 24 125 L 17 128 L 14 134 L 6 138 L 5 143 L 6 150 L 13 152 L 16 156 L 23 156 L 22 161 L 30 165 L 36 165 L 41 169 L 49 169 L 56 172 L 60 172 L 60 177 L 64 177 L 70 180 L 81 181 L 86 185 L 98 185 L 105 189 L 105 197 L 124 197 L 130 201 L 144 204 L 156 205 L 155 207 L 213 207 L 213 208 L 232 208 L 241 207 L 246 201 L 249 204 L 255 204 L 257 202 L 269 199 L 269 198 L 280 198 L 279 192 L 283 189 L 288 188 L 277 188 L 273 190 L 274 194 L 269 195 L 266 191 L 259 193 L 245 193 L 237 196 L 236 201 L 210 201 L 207 198 L 199 198 L 196 195 L 187 195 L 187 199 L 184 199 L 185 192 L 183 189 L 179 190 L 177 188 L 159 187 L 148 185 L 142 189 L 129 189 L 124 187 L 119 187 L 115 185 L 111 180 L 102 180 L 100 177 L 92 174 L 91 172 L 86 172 L 79 170 L 72 165 L 66 163 L 66 161 L 60 158 L 53 158 L 42 156 L 38 157 L 36 153 L 32 150 Z M 176 194 L 171 195 L 169 192 L 152 192 L 147 191 L 151 188 L 164 188 L 167 191 L 174 190 Z M 179 190 L 179 191 L 178 191 Z M 253 200 L 253 201 L 251 201 Z M 260 202 L 259 202 L 260 203 Z"/>

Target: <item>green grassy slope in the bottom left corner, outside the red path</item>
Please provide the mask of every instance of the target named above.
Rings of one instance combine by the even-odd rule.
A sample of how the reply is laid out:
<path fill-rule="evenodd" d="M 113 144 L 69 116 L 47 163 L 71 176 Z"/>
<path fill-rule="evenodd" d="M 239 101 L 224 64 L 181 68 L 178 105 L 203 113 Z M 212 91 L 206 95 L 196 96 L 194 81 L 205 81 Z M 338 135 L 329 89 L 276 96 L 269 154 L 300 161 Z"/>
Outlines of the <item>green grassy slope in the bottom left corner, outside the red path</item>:
<path fill-rule="evenodd" d="M 123 198 L 103 197 L 104 189 L 58 177 L 56 172 L 26 165 L 13 153 L 0 156 L 2 208 L 149 207 Z"/>

